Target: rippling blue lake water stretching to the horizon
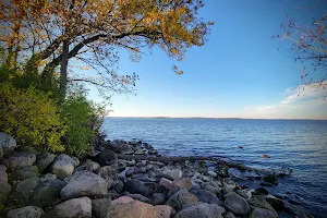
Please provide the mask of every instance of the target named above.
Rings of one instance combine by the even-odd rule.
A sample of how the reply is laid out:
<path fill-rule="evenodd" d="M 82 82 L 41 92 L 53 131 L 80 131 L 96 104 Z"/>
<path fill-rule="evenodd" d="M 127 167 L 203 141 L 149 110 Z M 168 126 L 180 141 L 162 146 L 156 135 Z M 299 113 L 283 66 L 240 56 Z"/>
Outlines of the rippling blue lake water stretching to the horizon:
<path fill-rule="evenodd" d="M 269 192 L 301 203 L 315 217 L 327 216 L 327 121 L 107 118 L 102 130 L 109 140 L 137 138 L 167 156 L 223 156 L 256 168 L 290 167 L 292 175 Z"/>

